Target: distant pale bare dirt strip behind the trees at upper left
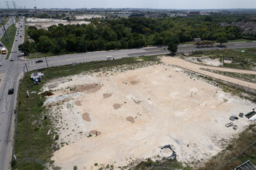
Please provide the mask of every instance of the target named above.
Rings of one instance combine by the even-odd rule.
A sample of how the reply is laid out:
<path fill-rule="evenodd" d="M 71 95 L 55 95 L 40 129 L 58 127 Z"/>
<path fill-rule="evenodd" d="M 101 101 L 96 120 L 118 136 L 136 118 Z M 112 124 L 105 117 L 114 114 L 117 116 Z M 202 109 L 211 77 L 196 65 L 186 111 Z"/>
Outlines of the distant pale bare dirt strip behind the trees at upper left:
<path fill-rule="evenodd" d="M 37 29 L 48 29 L 49 26 L 54 26 L 58 24 L 89 24 L 91 22 L 85 22 L 85 21 L 70 21 L 64 19 L 36 19 L 36 18 L 27 18 L 26 22 L 29 24 L 29 26 L 36 26 Z"/>

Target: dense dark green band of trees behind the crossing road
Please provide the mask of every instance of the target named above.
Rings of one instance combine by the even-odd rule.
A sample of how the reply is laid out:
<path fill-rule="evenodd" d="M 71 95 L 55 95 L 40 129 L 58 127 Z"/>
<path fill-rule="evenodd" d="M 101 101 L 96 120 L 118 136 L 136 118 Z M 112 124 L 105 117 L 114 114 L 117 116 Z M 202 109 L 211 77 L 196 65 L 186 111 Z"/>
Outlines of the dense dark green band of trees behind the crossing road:
<path fill-rule="evenodd" d="M 90 24 L 50 26 L 47 30 L 29 26 L 26 41 L 19 49 L 27 53 L 88 52 L 131 49 L 143 46 L 191 42 L 193 38 L 216 41 L 240 39 L 237 27 L 218 25 L 219 16 L 175 18 L 95 19 Z"/>

